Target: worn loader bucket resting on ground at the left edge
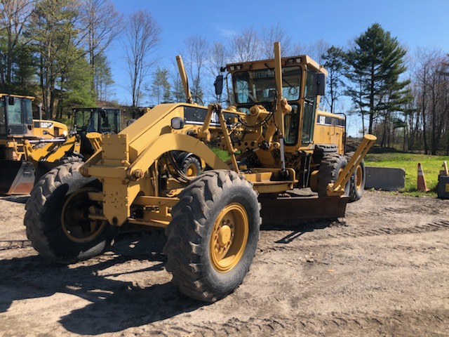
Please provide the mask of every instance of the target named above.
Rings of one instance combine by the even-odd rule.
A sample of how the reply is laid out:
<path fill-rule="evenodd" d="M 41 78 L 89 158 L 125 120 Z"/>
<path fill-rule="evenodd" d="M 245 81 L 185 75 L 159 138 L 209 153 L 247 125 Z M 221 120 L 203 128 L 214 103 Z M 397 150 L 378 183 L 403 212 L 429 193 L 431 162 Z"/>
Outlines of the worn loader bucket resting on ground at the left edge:
<path fill-rule="evenodd" d="M 0 160 L 0 194 L 29 194 L 34 167 L 29 161 Z"/>

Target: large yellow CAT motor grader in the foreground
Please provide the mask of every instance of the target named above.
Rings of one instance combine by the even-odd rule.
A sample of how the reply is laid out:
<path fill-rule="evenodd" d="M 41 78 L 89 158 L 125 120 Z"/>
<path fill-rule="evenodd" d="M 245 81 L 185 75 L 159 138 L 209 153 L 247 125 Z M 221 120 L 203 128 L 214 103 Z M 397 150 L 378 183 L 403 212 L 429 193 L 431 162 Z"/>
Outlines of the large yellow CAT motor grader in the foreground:
<path fill-rule="evenodd" d="M 344 216 L 360 192 L 354 172 L 375 137 L 366 135 L 347 161 L 344 120 L 317 109 L 326 70 L 306 55 L 281 58 L 279 43 L 274 51 L 274 60 L 227 65 L 235 102 L 227 109 L 192 103 L 178 57 L 188 103 L 157 105 L 123 131 L 93 140 L 86 163 L 58 166 L 37 183 L 25 214 L 34 248 L 74 263 L 102 253 L 124 225 L 162 227 L 173 284 L 213 302 L 248 272 L 261 210 Z M 223 81 L 215 81 L 217 95 Z M 227 150 L 229 161 L 209 143 Z M 173 151 L 191 152 L 210 169 L 189 178 Z M 297 197 L 305 187 L 314 197 Z"/>

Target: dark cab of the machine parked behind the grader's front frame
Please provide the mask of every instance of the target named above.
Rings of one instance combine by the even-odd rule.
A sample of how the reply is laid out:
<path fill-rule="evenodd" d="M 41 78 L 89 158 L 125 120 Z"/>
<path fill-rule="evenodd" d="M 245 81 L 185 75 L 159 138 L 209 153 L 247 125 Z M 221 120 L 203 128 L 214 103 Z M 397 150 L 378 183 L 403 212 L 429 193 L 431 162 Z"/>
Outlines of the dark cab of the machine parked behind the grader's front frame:
<path fill-rule="evenodd" d="M 81 153 L 93 154 L 93 147 L 86 138 L 87 133 L 119 133 L 120 110 L 107 107 L 74 108 L 74 130 L 81 136 Z"/>

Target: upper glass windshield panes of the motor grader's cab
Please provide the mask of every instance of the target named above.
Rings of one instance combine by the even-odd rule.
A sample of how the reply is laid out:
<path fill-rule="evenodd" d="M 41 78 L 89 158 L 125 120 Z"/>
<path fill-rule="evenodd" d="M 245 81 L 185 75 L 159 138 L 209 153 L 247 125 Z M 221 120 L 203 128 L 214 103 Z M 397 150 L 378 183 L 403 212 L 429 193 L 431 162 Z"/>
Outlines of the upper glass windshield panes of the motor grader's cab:
<path fill-rule="evenodd" d="M 300 99 L 301 68 L 282 69 L 282 95 L 287 100 Z M 276 81 L 273 69 L 262 69 L 234 74 L 236 103 L 272 102 L 276 98 Z"/>

